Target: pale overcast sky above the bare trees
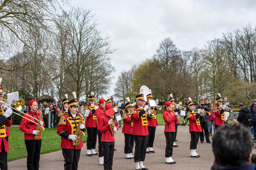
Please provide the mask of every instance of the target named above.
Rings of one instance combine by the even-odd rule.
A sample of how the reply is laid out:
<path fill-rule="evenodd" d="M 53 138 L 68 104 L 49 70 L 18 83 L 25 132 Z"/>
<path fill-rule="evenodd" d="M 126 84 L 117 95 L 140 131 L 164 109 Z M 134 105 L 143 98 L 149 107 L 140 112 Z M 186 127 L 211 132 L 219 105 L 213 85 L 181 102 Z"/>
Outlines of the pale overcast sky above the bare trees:
<path fill-rule="evenodd" d="M 71 5 L 92 11 L 97 29 L 110 36 L 115 77 L 152 57 L 164 38 L 172 38 L 180 50 L 191 50 L 223 32 L 256 25 L 254 0 L 71 0 Z"/>

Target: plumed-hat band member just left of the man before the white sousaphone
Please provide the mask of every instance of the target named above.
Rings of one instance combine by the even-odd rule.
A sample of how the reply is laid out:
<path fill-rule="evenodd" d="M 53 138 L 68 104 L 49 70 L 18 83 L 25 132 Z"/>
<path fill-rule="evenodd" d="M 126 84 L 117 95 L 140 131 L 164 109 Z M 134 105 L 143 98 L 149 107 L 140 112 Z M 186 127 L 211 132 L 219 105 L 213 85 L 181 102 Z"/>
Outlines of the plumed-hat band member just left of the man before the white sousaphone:
<path fill-rule="evenodd" d="M 124 153 L 126 159 L 132 159 L 134 156 L 132 155 L 132 149 L 134 145 L 134 138 L 132 135 L 132 118 L 131 118 L 131 108 L 132 104 L 130 102 L 129 97 L 126 98 L 127 103 L 125 103 L 125 110 L 123 112 L 122 118 L 124 122 L 124 126 L 122 129 L 122 133 L 124 134 Z"/>

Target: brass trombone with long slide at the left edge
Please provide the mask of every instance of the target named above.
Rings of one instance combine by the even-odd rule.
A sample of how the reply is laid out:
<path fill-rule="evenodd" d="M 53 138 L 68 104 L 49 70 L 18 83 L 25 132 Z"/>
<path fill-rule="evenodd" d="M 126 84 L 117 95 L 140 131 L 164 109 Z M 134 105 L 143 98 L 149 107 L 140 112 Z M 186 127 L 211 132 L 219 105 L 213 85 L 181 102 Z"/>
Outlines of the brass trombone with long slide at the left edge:
<path fill-rule="evenodd" d="M 28 117 L 33 118 L 34 120 L 38 121 L 38 123 L 36 123 L 35 121 L 33 121 L 33 120 L 29 119 L 29 118 L 26 118 L 26 117 L 20 115 L 19 113 L 16 113 L 15 111 L 12 111 L 12 113 L 15 113 L 15 115 L 18 115 L 19 117 L 22 117 L 22 118 L 26 118 L 26 120 L 29 120 L 30 122 L 33 122 L 34 124 L 39 124 L 40 121 L 39 121 L 37 118 L 32 117 L 31 115 L 28 115 L 28 114 L 24 113 L 23 111 L 21 111 L 22 108 L 25 106 L 25 101 L 24 101 L 23 99 L 19 99 L 18 101 L 11 103 L 11 104 L 13 104 L 16 108 L 13 108 L 12 106 L 9 106 L 8 104 L 6 104 L 6 102 L 7 102 L 6 99 L 2 99 L 2 101 L 3 101 L 3 104 L 4 104 L 4 105 L 6 105 L 6 106 L 12 108 L 12 110 L 19 111 L 19 113 L 23 113 L 24 115 L 27 115 Z"/>

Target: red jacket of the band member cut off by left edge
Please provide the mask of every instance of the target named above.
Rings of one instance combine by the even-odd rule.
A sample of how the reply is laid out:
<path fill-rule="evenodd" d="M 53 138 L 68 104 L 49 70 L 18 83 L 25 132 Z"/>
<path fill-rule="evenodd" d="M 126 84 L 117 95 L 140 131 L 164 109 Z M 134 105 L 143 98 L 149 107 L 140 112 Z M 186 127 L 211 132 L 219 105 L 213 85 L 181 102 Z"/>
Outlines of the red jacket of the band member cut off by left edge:
<path fill-rule="evenodd" d="M 3 115 L 3 113 L 4 113 L 4 110 L 3 108 L 0 107 L 0 115 Z M 10 147 L 6 140 L 6 137 L 10 136 L 10 131 L 8 127 L 12 126 L 12 117 L 6 118 L 4 120 L 5 121 L 7 120 L 7 122 L 6 124 L 0 127 L 0 146 L 2 146 L 2 143 L 4 143 L 4 152 L 7 152 L 8 150 L 10 150 Z M 0 152 L 2 152 L 2 147 L 0 147 Z"/>

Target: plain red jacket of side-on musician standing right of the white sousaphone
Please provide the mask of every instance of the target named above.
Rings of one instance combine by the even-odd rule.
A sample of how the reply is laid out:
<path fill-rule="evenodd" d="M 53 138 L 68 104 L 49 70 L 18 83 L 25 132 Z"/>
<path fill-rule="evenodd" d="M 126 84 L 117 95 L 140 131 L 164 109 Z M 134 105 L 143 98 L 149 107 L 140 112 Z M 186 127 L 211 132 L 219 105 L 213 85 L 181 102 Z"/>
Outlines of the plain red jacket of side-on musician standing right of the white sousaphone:
<path fill-rule="evenodd" d="M 175 132 L 175 120 L 176 115 L 173 113 L 173 111 L 166 110 L 163 113 L 164 118 L 164 132 Z"/>

